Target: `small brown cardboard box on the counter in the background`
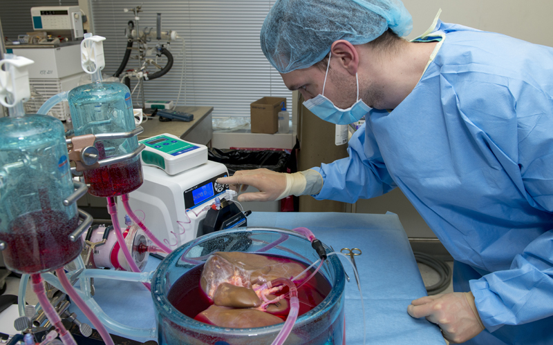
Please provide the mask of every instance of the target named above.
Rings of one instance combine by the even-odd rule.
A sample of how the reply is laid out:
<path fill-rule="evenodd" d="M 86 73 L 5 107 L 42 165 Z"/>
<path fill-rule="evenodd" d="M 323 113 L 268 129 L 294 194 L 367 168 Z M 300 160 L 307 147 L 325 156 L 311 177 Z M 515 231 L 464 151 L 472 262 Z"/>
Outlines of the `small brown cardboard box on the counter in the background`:
<path fill-rule="evenodd" d="M 279 111 L 282 102 L 286 106 L 286 99 L 282 97 L 263 97 L 250 104 L 252 119 L 252 133 L 274 134 L 279 130 Z"/>

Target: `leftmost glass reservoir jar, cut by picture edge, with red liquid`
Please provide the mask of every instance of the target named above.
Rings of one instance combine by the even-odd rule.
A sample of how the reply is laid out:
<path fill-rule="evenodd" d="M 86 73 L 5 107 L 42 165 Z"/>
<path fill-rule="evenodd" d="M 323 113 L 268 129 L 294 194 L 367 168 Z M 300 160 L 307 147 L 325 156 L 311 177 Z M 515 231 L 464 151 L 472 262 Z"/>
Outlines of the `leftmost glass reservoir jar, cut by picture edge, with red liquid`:
<path fill-rule="evenodd" d="M 41 273 L 73 261 L 82 241 L 62 121 L 46 115 L 0 119 L 0 240 L 17 273 Z"/>

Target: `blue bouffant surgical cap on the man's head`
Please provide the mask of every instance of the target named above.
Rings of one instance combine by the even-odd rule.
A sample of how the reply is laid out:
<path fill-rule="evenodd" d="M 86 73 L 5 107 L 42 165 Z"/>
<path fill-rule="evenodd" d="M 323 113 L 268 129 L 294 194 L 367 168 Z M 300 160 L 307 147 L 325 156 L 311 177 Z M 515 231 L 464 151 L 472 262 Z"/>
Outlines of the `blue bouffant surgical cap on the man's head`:
<path fill-rule="evenodd" d="M 399 36 L 413 28 L 400 0 L 277 0 L 261 28 L 261 50 L 288 73 L 321 61 L 334 41 L 364 44 L 388 28 Z"/>

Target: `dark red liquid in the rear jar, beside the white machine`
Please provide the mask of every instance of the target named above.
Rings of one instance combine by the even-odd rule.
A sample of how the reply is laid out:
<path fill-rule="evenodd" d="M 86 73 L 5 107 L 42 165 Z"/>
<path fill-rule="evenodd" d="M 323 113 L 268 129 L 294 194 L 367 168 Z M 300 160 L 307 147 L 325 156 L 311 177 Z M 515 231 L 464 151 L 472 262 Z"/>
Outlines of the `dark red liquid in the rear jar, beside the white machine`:
<path fill-rule="evenodd" d="M 123 161 L 84 172 L 84 181 L 90 184 L 88 193 L 96 197 L 115 197 L 142 186 L 140 159 Z"/>

